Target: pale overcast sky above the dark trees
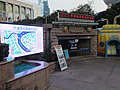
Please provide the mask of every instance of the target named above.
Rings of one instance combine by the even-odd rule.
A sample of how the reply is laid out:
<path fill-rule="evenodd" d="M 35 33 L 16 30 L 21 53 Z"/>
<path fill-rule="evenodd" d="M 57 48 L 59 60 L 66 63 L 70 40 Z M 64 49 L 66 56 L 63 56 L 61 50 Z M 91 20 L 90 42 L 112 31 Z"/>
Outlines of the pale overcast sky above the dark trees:
<path fill-rule="evenodd" d="M 37 3 L 37 0 L 28 0 L 34 3 Z M 77 8 L 78 5 L 87 4 L 88 1 L 92 1 L 92 8 L 95 12 L 101 12 L 106 10 L 107 6 L 103 0 L 48 0 L 50 7 L 50 13 L 55 10 L 67 10 L 68 12 L 74 8 Z"/>

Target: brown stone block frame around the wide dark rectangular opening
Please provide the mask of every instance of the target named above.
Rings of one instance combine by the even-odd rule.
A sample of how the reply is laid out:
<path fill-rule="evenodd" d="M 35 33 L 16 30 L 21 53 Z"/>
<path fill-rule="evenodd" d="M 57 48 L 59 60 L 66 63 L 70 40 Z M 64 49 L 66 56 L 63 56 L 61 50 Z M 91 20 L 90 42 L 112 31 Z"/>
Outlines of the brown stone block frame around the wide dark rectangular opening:
<path fill-rule="evenodd" d="M 90 38 L 91 40 L 91 55 L 97 55 L 97 30 L 91 29 L 89 31 L 79 28 L 69 28 L 68 31 L 64 31 L 63 28 L 53 28 L 51 30 L 51 46 L 54 50 L 54 46 L 58 45 L 58 37 L 82 37 Z"/>

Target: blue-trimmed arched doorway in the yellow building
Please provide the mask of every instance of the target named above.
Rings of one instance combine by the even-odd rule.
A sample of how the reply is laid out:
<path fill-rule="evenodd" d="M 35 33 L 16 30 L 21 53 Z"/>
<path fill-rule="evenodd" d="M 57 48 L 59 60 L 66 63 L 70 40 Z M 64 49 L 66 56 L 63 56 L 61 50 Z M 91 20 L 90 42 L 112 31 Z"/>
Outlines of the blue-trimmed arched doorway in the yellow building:
<path fill-rule="evenodd" d="M 106 42 L 105 56 L 120 56 L 120 41 L 117 39 L 109 40 Z"/>

